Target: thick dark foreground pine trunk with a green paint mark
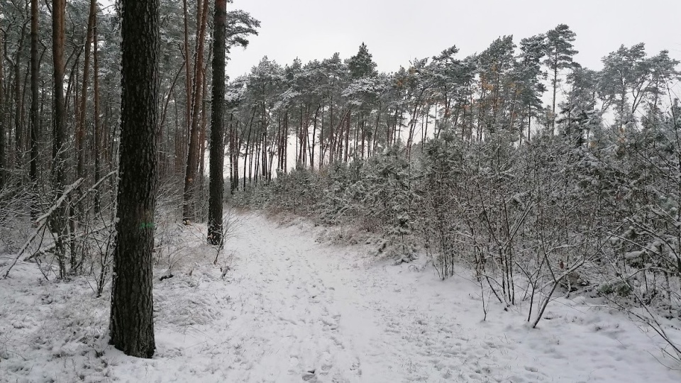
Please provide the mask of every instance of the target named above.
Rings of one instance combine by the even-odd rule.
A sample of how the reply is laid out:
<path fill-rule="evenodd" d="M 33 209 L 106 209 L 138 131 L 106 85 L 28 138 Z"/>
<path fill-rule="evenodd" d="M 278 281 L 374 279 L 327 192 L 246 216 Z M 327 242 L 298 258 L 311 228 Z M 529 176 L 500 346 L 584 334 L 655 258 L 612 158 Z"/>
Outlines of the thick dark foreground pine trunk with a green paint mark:
<path fill-rule="evenodd" d="M 159 0 L 123 0 L 121 159 L 110 343 L 154 354 L 152 252 L 157 172 Z"/>

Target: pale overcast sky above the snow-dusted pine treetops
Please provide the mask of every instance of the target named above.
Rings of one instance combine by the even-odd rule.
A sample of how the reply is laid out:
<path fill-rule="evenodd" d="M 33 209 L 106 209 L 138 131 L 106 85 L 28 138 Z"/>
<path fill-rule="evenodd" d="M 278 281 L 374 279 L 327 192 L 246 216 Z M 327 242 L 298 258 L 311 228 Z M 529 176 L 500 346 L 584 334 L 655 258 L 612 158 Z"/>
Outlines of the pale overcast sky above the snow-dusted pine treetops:
<path fill-rule="evenodd" d="M 333 52 L 345 59 L 362 41 L 378 70 L 393 72 L 451 45 L 465 57 L 500 35 L 518 43 L 559 23 L 577 33 L 576 60 L 592 69 L 621 44 L 643 42 L 649 55 L 667 49 L 681 60 L 681 0 L 234 0 L 228 7 L 262 23 L 246 50 L 231 52 L 231 78 L 265 55 L 281 65 Z"/>

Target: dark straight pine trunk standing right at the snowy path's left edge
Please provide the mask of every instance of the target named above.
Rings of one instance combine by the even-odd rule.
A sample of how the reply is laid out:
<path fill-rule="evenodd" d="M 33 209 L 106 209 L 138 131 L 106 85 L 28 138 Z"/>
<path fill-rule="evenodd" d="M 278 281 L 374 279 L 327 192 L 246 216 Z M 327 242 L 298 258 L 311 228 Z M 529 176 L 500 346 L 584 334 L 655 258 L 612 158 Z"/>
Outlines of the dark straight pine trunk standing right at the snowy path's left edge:
<path fill-rule="evenodd" d="M 208 242 L 222 242 L 222 199 L 225 164 L 225 28 L 227 0 L 215 0 L 213 44 L 213 109 L 211 113 L 210 181 L 208 200 Z"/>

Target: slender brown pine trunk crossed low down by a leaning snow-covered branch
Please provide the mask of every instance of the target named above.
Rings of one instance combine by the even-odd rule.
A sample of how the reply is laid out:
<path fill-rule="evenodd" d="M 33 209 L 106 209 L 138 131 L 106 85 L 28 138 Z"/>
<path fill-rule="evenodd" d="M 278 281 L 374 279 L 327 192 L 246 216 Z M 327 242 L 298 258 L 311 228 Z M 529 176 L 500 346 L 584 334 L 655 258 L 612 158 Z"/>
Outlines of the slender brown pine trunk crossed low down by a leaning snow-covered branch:
<path fill-rule="evenodd" d="M 55 196 L 60 196 L 66 187 L 66 113 L 64 107 L 64 18 L 66 0 L 52 0 L 52 60 L 55 77 L 55 121 L 54 140 L 52 145 L 52 189 Z M 50 219 L 52 233 L 57 233 L 55 239 L 55 255 L 59 262 L 60 277 L 65 277 L 66 254 L 66 208 L 60 206 Z"/>

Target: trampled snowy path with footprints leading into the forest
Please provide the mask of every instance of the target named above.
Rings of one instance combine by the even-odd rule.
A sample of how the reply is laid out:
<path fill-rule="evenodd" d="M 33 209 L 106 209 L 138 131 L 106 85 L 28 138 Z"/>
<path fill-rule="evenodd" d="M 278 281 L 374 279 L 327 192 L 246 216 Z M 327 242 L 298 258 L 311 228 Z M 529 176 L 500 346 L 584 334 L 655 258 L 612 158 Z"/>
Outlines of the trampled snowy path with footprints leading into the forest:
<path fill-rule="evenodd" d="M 491 379 L 492 368 L 482 359 L 497 345 L 464 353 L 472 331 L 465 331 L 455 316 L 445 318 L 442 310 L 433 308 L 445 302 L 437 296 L 423 300 L 416 281 L 389 273 L 389 263 L 362 255 L 360 246 L 316 243 L 313 231 L 277 227 L 260 216 L 248 216 L 228 243 L 228 251 L 236 255 L 230 276 L 239 292 L 233 299 L 236 318 L 227 326 L 240 338 L 243 360 L 248 361 L 235 372 L 236 379 Z"/>

